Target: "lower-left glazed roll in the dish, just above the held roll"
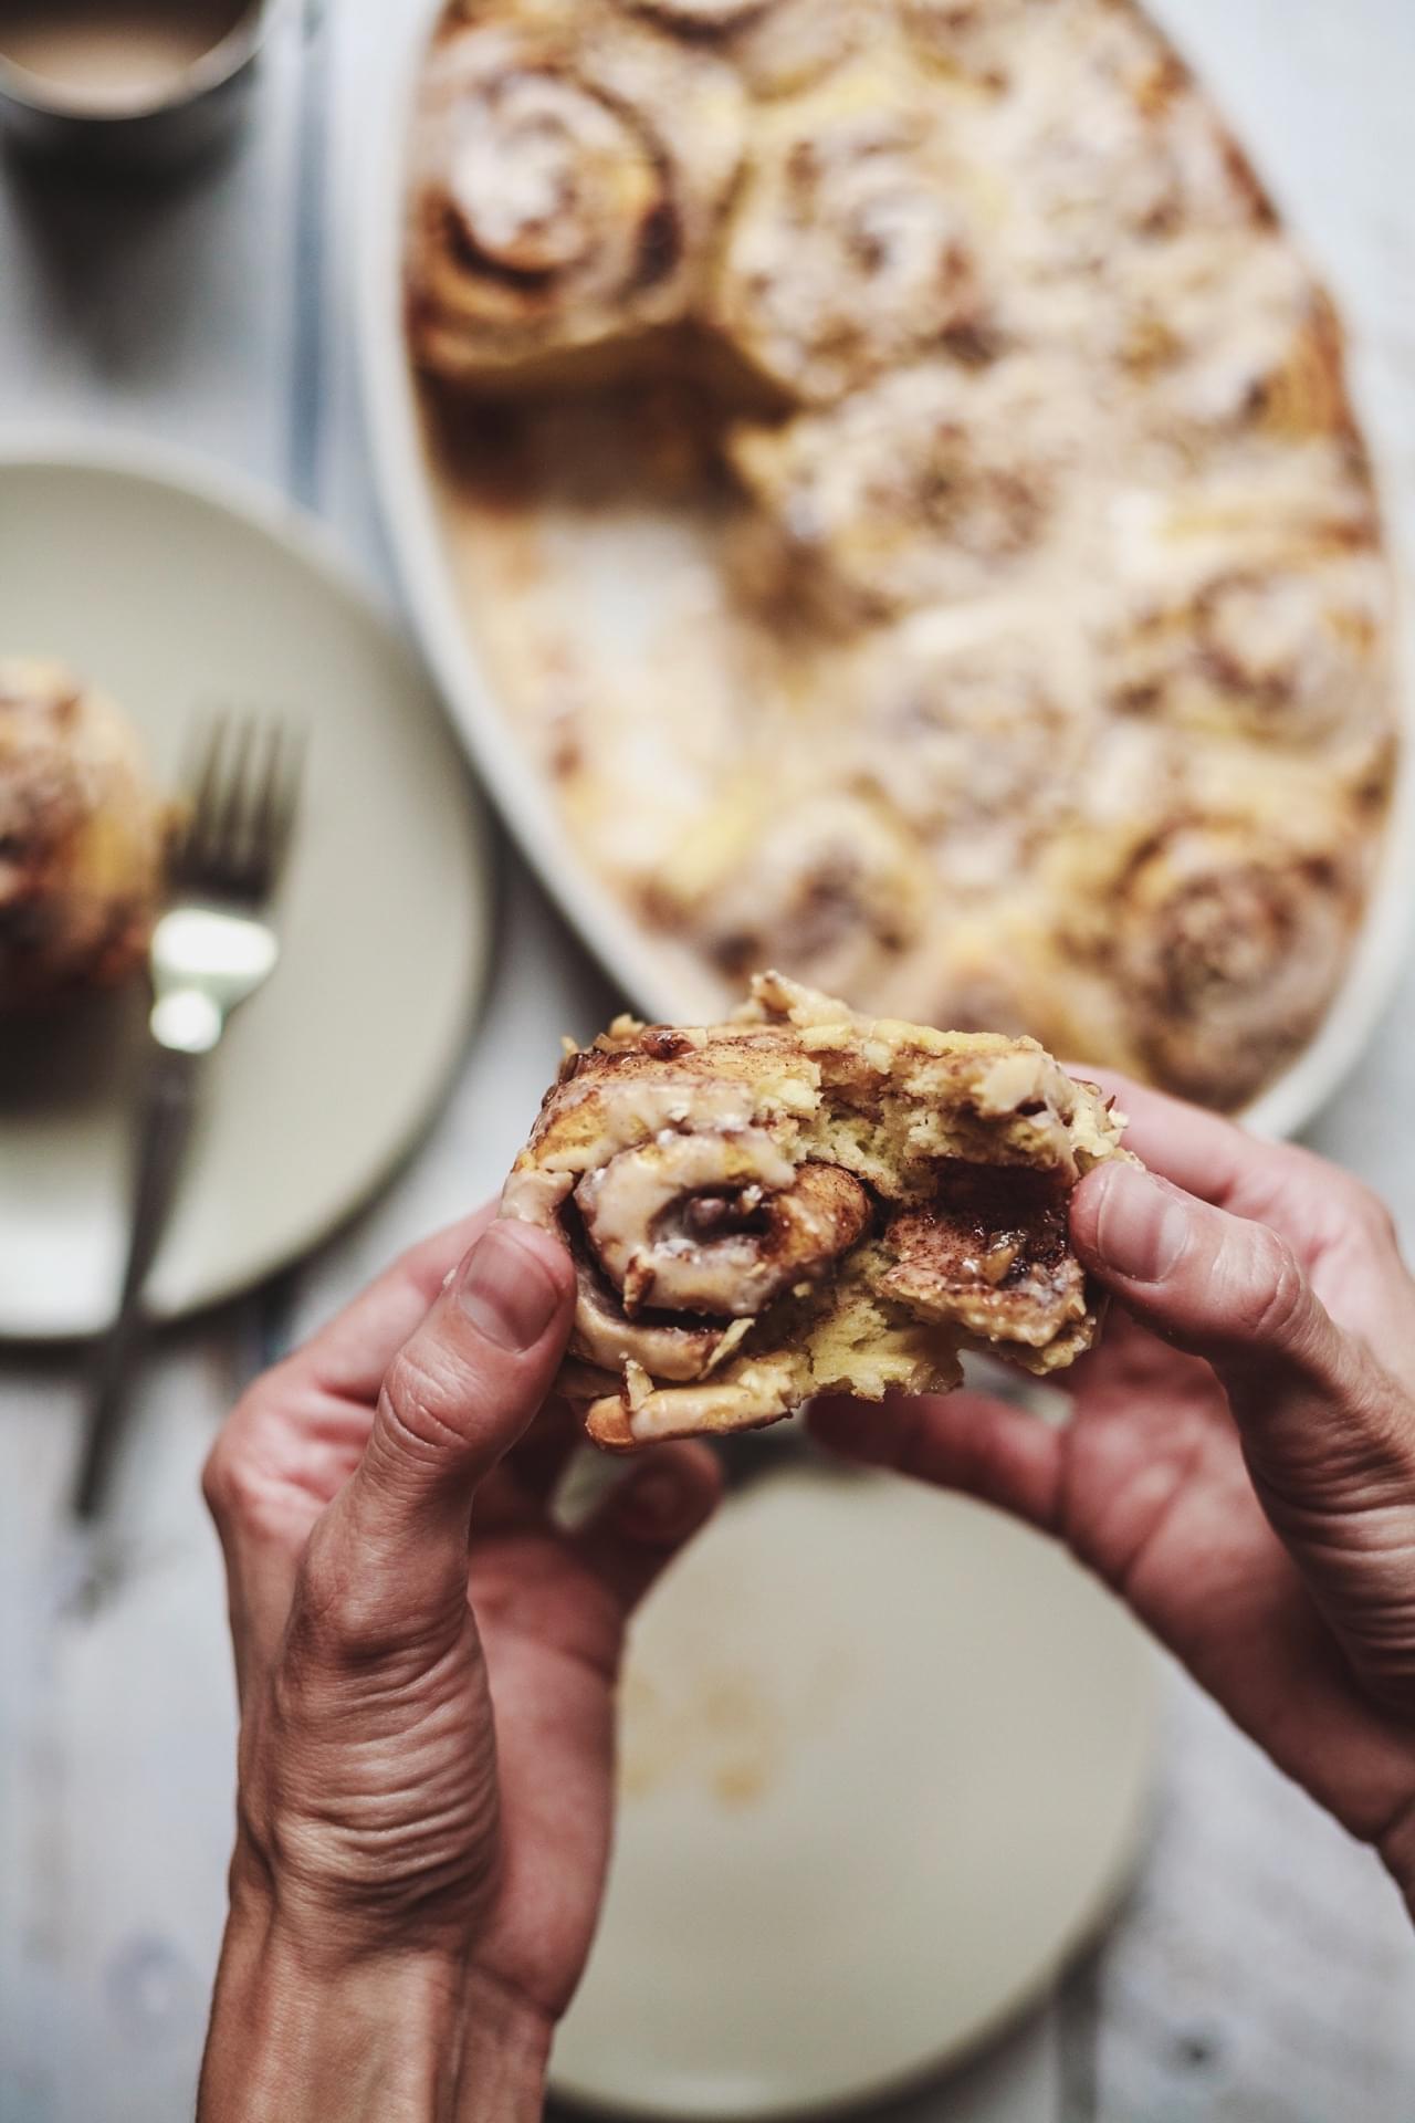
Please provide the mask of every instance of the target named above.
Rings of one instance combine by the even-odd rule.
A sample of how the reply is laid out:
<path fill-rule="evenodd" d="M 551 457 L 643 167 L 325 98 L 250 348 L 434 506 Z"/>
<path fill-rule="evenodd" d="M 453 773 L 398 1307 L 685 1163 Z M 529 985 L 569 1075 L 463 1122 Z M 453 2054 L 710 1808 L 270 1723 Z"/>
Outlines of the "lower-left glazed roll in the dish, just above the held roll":
<path fill-rule="evenodd" d="M 740 790 L 660 864 L 651 915 L 732 981 L 789 974 L 870 991 L 919 934 L 931 875 L 899 811 L 868 788 Z"/>

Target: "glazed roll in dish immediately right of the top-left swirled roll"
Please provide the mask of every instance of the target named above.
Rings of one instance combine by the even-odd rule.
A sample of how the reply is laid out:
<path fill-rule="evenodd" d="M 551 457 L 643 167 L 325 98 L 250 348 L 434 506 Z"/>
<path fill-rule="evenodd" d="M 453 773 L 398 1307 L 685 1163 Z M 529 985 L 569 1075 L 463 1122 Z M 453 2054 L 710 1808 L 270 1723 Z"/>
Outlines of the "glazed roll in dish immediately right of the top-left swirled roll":
<path fill-rule="evenodd" d="M 889 57 L 764 117 L 704 321 L 772 389 L 829 403 L 986 333 L 978 178 Z"/>

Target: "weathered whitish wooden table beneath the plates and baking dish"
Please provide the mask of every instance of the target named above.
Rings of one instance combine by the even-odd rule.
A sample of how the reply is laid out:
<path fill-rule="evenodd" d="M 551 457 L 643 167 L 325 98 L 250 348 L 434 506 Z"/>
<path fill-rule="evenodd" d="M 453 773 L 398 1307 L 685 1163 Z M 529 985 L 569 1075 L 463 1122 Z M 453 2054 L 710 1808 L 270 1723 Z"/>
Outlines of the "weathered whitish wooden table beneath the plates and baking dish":
<path fill-rule="evenodd" d="M 165 197 L 0 166 L 0 427 L 123 429 L 231 461 L 320 510 L 371 575 L 348 297 L 361 79 L 395 0 L 293 11 L 242 153 Z M 1415 550 L 1415 8 L 1171 0 L 1347 301 Z M 66 1618 L 62 1497 L 78 1388 L 64 1357 L 0 1363 L 0 2123 L 191 2112 L 231 1826 L 231 1684 L 197 1467 L 272 1346 L 499 1180 L 526 1085 L 611 996 L 511 856 L 499 968 L 420 1155 L 276 1291 L 157 1352 L 117 1509 L 123 1596 Z M 1415 968 L 1313 1142 L 1415 1227 Z M 0 1202 L 0 1214 L 4 1204 Z M 957 1943 L 940 1940 L 940 1953 Z M 1048 2010 L 925 2119 L 1411 2123 L 1415 1947 L 1353 1849 L 1177 1677 L 1131 1904 Z"/>

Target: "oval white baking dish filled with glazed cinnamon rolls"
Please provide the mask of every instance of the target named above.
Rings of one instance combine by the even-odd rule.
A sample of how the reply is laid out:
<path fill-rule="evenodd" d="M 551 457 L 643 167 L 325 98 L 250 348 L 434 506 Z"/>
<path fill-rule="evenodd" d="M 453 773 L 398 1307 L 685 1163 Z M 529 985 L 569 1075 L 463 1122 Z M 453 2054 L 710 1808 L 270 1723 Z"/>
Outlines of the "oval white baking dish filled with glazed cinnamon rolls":
<path fill-rule="evenodd" d="M 450 0 L 375 446 L 503 809 L 653 1017 L 762 966 L 1294 1127 L 1368 1032 L 1398 571 L 1337 308 L 1133 0 Z"/>

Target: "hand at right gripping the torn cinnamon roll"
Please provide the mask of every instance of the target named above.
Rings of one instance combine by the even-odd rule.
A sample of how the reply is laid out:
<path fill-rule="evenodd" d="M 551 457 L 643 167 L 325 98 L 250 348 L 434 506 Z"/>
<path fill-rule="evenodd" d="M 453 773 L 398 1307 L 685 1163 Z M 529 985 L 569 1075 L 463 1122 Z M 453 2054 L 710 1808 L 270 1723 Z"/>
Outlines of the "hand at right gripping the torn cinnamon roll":
<path fill-rule="evenodd" d="M 1415 1913 L 1415 1282 L 1345 1172 L 1112 1089 L 1150 1172 L 1073 1195 L 1124 1310 L 1054 1380 L 1071 1422 L 963 1391 L 821 1401 L 815 1431 L 1061 1537 Z"/>

